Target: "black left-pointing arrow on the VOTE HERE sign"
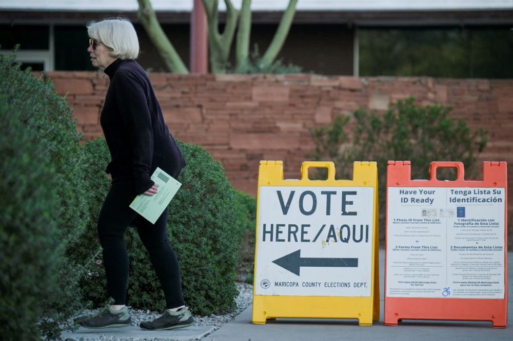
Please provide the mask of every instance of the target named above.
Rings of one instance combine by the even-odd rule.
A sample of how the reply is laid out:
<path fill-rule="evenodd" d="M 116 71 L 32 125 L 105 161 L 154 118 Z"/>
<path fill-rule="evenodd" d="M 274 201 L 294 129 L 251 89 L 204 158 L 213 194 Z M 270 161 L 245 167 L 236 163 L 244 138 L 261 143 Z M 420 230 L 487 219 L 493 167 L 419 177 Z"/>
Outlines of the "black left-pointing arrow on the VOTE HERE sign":
<path fill-rule="evenodd" d="M 301 258 L 301 249 L 299 249 L 272 261 L 272 263 L 299 276 L 302 266 L 357 268 L 358 258 Z"/>

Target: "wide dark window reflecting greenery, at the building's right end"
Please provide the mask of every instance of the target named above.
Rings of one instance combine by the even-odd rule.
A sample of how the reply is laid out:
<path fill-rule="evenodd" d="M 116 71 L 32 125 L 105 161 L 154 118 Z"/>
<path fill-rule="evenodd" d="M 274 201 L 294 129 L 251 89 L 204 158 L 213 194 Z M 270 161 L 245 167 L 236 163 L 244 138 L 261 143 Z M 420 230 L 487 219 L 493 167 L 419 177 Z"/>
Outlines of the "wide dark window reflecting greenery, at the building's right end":
<path fill-rule="evenodd" d="M 512 78 L 510 28 L 360 28 L 360 75 Z"/>

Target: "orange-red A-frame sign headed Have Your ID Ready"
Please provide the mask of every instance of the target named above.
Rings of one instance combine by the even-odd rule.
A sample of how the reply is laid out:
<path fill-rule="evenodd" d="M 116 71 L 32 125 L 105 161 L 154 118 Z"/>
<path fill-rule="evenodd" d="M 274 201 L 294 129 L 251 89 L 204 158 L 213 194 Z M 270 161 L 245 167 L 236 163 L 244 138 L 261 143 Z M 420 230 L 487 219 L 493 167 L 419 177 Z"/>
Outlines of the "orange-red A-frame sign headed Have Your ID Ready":
<path fill-rule="evenodd" d="M 437 169 L 456 168 L 456 181 Z M 461 162 L 431 162 L 411 180 L 409 161 L 388 161 L 384 323 L 403 319 L 507 324 L 506 162 L 483 162 L 464 180 Z"/>

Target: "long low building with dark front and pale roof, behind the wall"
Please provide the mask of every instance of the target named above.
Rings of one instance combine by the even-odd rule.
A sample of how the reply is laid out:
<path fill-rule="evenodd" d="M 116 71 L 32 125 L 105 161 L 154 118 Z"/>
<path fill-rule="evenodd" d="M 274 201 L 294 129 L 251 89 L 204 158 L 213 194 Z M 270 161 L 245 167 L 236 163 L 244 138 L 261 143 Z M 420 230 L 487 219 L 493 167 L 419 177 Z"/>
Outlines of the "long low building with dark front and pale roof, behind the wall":
<path fill-rule="evenodd" d="M 193 0 L 151 3 L 189 65 Z M 236 8 L 240 3 L 233 0 Z M 255 47 L 265 52 L 287 4 L 288 0 L 252 1 L 253 52 Z M 221 2 L 221 25 L 223 6 Z M 132 20 L 140 36 L 141 65 L 149 71 L 167 71 L 136 12 L 135 0 L 28 0 L 23 4 L 0 0 L 0 53 L 10 53 L 19 44 L 18 60 L 33 70 L 93 70 L 85 51 L 85 25 L 122 15 Z M 511 27 L 511 0 L 300 0 L 278 58 L 303 72 L 325 75 L 512 78 Z M 422 50 L 439 48 L 443 51 L 425 62 L 431 67 L 423 66 Z M 483 55 L 483 50 L 489 55 Z"/>

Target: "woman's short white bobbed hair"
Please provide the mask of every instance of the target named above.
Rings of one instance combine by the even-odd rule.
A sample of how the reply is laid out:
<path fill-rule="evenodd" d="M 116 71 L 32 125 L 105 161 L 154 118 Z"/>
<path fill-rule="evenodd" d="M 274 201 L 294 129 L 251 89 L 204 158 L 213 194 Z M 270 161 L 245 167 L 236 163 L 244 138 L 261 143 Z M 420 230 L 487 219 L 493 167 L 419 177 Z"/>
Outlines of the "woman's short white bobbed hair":
<path fill-rule="evenodd" d="M 127 18 L 104 19 L 87 24 L 87 33 L 112 49 L 110 55 L 119 59 L 135 59 L 139 56 L 139 39 Z"/>

